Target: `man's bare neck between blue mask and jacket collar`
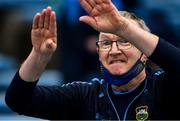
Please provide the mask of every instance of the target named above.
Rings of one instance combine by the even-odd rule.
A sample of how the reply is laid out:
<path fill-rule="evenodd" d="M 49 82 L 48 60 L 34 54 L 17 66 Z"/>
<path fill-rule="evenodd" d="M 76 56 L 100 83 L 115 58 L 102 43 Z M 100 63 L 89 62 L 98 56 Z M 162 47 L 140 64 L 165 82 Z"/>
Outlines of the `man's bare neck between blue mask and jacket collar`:
<path fill-rule="evenodd" d="M 145 69 L 143 69 L 143 71 L 141 73 L 139 73 L 129 83 L 122 85 L 122 86 L 112 85 L 112 89 L 115 91 L 126 92 L 128 90 L 133 89 L 134 87 L 139 86 L 145 80 L 145 78 L 146 78 L 146 72 L 145 72 Z"/>

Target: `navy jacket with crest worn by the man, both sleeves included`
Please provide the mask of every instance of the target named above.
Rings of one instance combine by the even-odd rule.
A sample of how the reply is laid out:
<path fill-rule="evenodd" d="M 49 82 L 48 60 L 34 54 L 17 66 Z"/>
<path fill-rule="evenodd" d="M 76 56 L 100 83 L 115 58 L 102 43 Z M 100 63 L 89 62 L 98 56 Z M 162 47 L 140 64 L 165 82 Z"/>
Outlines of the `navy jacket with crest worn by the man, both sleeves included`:
<path fill-rule="evenodd" d="M 6 93 L 15 112 L 43 119 L 180 119 L 180 50 L 160 39 L 150 60 L 163 70 L 147 68 L 147 78 L 130 92 L 115 94 L 103 79 L 61 86 L 36 86 L 18 72 Z"/>

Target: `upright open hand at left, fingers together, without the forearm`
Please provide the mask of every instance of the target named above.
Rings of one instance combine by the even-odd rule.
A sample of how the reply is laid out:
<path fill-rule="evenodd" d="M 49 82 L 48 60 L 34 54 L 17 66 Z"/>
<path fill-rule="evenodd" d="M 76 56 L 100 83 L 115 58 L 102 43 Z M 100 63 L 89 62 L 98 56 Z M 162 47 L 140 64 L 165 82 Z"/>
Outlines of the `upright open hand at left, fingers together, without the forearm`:
<path fill-rule="evenodd" d="M 37 13 L 33 19 L 31 39 L 38 54 L 52 55 L 57 48 L 56 15 L 51 7 Z"/>

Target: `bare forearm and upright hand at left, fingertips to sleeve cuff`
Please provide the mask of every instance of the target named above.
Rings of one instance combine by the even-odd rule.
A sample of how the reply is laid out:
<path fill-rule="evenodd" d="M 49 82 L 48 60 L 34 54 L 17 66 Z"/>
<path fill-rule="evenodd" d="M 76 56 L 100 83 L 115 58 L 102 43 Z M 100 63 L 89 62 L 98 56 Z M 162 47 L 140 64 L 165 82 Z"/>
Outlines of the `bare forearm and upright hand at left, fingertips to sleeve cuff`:
<path fill-rule="evenodd" d="M 56 15 L 51 7 L 34 16 L 31 39 L 33 49 L 19 69 L 20 77 L 27 82 L 40 78 L 57 48 Z"/>

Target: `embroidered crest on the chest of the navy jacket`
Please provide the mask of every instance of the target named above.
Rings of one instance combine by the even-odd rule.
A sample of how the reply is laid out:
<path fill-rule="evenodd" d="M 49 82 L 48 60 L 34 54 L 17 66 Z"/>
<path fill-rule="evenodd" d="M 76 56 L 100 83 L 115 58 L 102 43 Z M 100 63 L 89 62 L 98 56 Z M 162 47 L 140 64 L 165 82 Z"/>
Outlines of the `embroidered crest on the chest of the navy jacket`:
<path fill-rule="evenodd" d="M 148 107 L 140 106 L 136 108 L 136 120 L 145 121 L 148 118 Z"/>

